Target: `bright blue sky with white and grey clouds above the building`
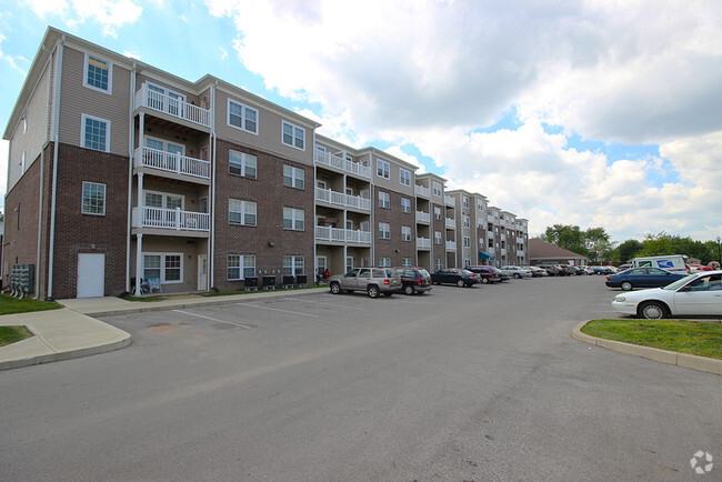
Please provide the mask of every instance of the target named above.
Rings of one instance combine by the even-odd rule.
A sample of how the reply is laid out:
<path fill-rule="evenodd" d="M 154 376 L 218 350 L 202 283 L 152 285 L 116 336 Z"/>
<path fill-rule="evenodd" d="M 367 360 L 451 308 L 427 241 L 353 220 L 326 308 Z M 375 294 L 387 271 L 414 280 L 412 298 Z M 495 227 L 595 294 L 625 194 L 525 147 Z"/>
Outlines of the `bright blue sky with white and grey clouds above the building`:
<path fill-rule="evenodd" d="M 2 0 L 3 130 L 49 24 L 242 86 L 532 235 L 722 234 L 719 0 Z M 7 172 L 4 141 L 0 159 Z"/>

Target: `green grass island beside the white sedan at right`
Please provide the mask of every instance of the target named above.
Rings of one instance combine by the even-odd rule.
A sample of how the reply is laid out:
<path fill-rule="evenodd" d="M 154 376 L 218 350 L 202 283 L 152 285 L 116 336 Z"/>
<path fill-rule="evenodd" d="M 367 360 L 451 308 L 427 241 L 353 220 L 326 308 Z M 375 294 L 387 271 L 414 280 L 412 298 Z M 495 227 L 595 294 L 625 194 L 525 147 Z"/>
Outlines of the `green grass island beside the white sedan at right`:
<path fill-rule="evenodd" d="M 582 333 L 722 360 L 722 325 L 691 320 L 593 320 Z"/>

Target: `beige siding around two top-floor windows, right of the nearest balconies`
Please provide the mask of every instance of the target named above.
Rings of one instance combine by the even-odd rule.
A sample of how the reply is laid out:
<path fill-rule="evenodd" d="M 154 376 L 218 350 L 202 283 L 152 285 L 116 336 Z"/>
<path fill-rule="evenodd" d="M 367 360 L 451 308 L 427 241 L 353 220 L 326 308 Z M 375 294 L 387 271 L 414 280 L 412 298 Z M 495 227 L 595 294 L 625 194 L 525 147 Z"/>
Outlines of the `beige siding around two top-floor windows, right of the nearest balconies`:
<path fill-rule="evenodd" d="M 258 135 L 241 129 L 235 129 L 228 124 L 229 98 L 258 111 Z M 287 122 L 305 130 L 305 150 L 301 151 L 284 145 L 281 142 L 281 120 L 285 120 Z M 299 122 L 299 120 L 290 117 L 284 118 L 273 111 L 260 107 L 257 103 L 250 102 L 247 98 L 230 94 L 221 89 L 215 90 L 215 133 L 219 139 L 232 143 L 249 145 L 254 149 L 277 154 L 283 159 L 313 165 L 313 127 L 305 125 Z"/>

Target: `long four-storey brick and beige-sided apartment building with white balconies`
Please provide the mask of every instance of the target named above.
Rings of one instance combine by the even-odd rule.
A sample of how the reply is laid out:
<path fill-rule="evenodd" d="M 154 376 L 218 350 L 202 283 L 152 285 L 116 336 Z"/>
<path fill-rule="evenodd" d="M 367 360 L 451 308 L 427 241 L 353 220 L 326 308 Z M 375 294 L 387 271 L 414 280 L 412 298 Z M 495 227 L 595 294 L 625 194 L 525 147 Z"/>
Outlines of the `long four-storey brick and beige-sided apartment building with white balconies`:
<path fill-rule="evenodd" d="M 140 279 L 230 291 L 478 262 L 465 238 L 460 250 L 467 208 L 443 178 L 318 127 L 212 76 L 191 82 L 49 28 L 3 134 L 3 284 L 19 264 L 34 267 L 37 297 L 76 298 L 138 293 Z M 509 242 L 513 214 L 498 217 Z M 519 257 L 525 223 L 513 222 Z"/>

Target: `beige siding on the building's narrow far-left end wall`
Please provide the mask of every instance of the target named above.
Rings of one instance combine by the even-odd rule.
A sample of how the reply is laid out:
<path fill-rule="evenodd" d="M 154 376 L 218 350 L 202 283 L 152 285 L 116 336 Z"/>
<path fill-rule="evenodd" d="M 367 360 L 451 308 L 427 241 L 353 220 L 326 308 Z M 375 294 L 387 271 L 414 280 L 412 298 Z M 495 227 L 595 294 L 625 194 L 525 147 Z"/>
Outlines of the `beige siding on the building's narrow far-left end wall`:
<path fill-rule="evenodd" d="M 26 153 L 26 171 L 37 159 L 46 141 L 49 140 L 48 122 L 51 107 L 48 103 L 50 82 L 50 64 L 47 64 L 40 80 L 26 107 L 26 116 L 20 119 L 12 134 L 10 155 L 8 159 L 8 190 L 22 177 L 22 153 Z M 23 120 L 28 129 L 23 132 Z"/>

